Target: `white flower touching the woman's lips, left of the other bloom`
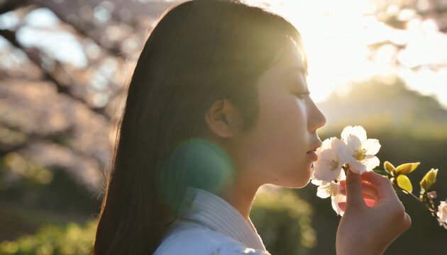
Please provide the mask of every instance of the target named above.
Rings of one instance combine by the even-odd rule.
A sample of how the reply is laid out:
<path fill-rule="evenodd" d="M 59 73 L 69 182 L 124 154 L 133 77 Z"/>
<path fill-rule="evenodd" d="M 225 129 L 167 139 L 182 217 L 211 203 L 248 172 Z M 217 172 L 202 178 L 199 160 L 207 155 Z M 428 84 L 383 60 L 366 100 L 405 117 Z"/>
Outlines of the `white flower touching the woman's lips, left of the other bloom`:
<path fill-rule="evenodd" d="M 319 159 L 314 163 L 311 179 L 326 182 L 337 179 L 338 176 L 340 176 L 341 166 L 346 163 L 342 160 L 346 156 L 340 157 L 339 155 L 346 155 L 347 153 L 348 148 L 337 137 L 331 137 L 324 140 L 321 147 L 316 150 Z M 312 183 L 314 183 L 314 181 L 312 181 Z"/>

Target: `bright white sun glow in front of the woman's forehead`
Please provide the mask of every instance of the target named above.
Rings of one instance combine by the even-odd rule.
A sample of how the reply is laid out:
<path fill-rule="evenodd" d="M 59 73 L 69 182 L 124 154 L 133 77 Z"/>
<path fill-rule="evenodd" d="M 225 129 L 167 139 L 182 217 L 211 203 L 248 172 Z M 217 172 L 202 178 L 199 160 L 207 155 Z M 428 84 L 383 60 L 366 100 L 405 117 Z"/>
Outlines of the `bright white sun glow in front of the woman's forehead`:
<path fill-rule="evenodd" d="M 447 68 L 438 72 L 409 69 L 447 63 L 447 35 L 438 32 L 433 20 L 421 21 L 412 10 L 390 6 L 387 14 L 398 14 L 399 20 L 409 21 L 405 30 L 391 28 L 368 16 L 376 8 L 370 0 L 246 2 L 284 16 L 302 34 L 314 101 L 324 101 L 337 87 L 346 86 L 337 89 L 346 93 L 349 81 L 378 76 L 392 83 L 399 76 L 407 81 L 409 89 L 434 95 L 447 108 Z M 368 50 L 368 45 L 387 40 L 407 47 L 398 51 L 395 45 L 385 44 L 374 55 Z M 397 66 L 396 60 L 404 66 Z"/>

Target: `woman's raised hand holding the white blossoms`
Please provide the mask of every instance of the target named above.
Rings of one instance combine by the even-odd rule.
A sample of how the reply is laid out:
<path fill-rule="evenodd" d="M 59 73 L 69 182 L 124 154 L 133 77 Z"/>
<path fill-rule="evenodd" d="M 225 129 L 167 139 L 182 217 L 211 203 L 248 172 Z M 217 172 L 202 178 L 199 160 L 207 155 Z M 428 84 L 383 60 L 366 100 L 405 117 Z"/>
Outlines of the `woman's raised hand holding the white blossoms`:
<path fill-rule="evenodd" d="M 341 185 L 346 186 L 346 206 L 341 206 L 345 212 L 337 229 L 338 255 L 383 254 L 412 225 L 386 177 L 373 171 L 360 176 L 348 170 L 346 183 L 341 181 Z M 365 198 L 373 201 L 371 206 Z"/>

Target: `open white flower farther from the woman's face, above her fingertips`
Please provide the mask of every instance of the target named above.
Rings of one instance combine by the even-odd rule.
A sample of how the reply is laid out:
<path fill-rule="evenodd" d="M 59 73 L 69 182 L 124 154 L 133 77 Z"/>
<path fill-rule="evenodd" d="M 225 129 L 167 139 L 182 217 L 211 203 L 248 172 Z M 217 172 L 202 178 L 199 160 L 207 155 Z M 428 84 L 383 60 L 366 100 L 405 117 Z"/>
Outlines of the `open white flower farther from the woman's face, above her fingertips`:
<path fill-rule="evenodd" d="M 375 154 L 379 152 L 380 143 L 377 139 L 367 139 L 366 131 L 361 126 L 347 126 L 341 132 L 341 140 L 347 145 L 347 150 L 339 154 L 343 161 L 349 164 L 355 174 L 372 171 L 380 161 Z"/>

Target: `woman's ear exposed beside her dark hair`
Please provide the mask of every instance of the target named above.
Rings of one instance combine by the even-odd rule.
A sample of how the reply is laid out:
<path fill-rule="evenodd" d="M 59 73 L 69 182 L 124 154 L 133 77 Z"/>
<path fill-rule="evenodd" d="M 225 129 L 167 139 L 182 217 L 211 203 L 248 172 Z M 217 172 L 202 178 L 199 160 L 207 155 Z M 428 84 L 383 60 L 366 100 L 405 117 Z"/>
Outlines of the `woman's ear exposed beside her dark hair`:
<path fill-rule="evenodd" d="M 214 102 L 206 111 L 205 123 L 219 137 L 232 137 L 242 128 L 241 115 L 225 98 Z"/>

